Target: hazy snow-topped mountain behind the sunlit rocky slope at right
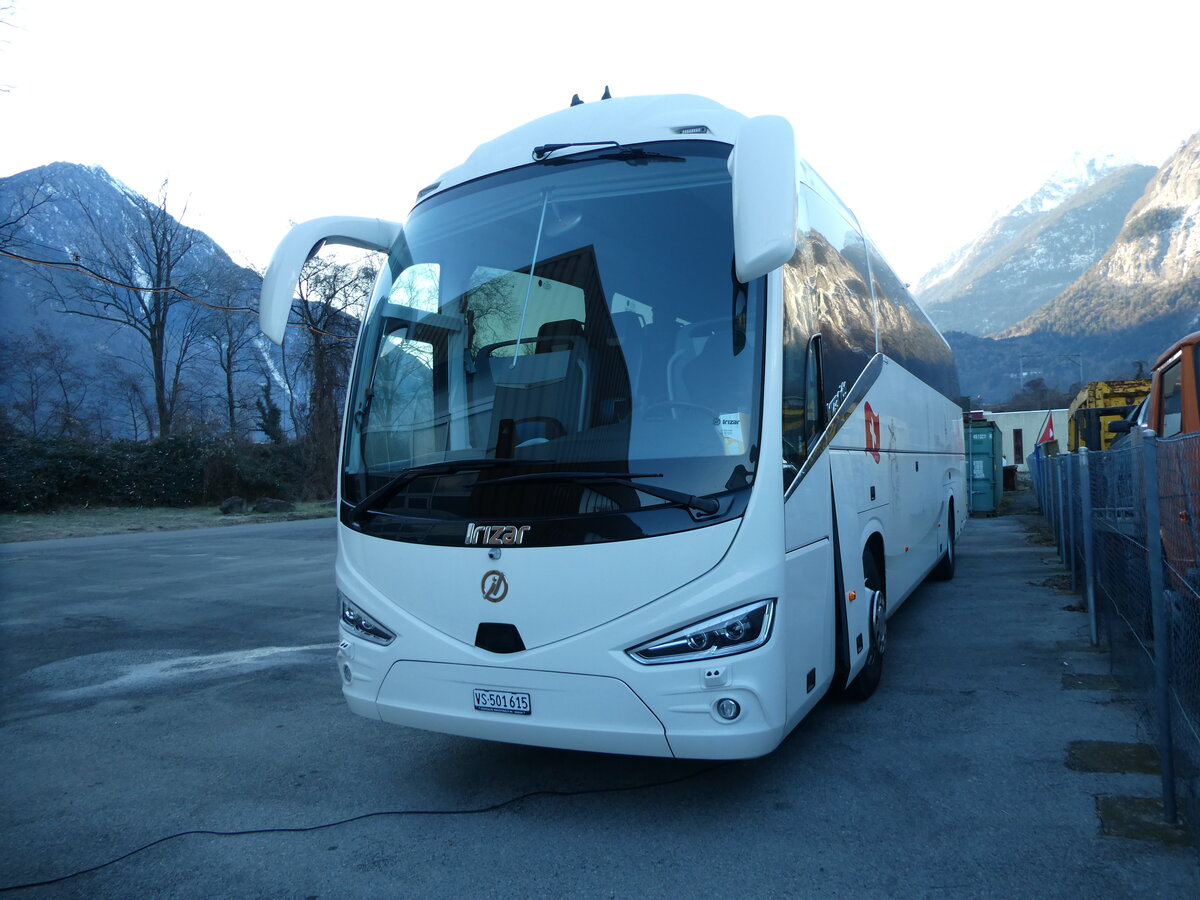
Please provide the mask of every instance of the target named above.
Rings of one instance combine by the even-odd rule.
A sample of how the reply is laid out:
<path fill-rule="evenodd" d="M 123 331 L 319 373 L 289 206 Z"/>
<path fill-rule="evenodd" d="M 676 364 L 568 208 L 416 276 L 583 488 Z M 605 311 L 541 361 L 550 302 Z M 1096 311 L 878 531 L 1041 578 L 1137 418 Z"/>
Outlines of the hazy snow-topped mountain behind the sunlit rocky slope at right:
<path fill-rule="evenodd" d="M 1084 158 L 1048 180 L 966 247 L 926 272 L 918 301 L 943 331 L 986 335 L 1049 302 L 1099 259 L 1154 174 Z"/>

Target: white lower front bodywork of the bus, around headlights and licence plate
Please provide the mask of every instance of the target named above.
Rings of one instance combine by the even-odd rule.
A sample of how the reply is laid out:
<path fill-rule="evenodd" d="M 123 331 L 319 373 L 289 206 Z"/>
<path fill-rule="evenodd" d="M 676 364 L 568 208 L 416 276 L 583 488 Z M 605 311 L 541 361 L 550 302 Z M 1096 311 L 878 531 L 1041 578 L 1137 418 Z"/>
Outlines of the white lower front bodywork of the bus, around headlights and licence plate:
<path fill-rule="evenodd" d="M 727 535 L 737 527 L 737 523 L 726 523 L 702 530 Z M 510 559 L 522 557 L 520 571 L 533 572 L 540 566 L 540 559 L 559 557 L 552 568 L 571 572 L 569 584 L 562 590 L 536 592 L 541 599 L 528 601 L 524 618 L 498 608 L 506 606 L 508 600 L 491 611 L 485 610 L 491 613 L 486 618 L 460 616 L 460 622 L 470 623 L 468 640 L 431 626 L 380 594 L 360 593 L 367 589 L 367 582 L 350 560 L 365 554 L 377 560 L 386 559 L 395 553 L 395 544 L 371 551 L 343 552 L 338 559 L 338 586 L 352 596 L 373 595 L 379 605 L 372 608 L 372 614 L 397 635 L 392 644 L 380 647 L 342 630 L 338 664 L 343 673 L 346 667 L 350 672 L 349 683 L 343 677 L 346 698 L 355 712 L 384 721 L 492 740 L 691 758 L 766 754 L 779 744 L 787 727 L 784 642 L 772 640 L 755 652 L 710 661 L 656 666 L 636 662 L 625 652 L 710 614 L 779 596 L 780 542 L 776 539 L 773 545 L 763 546 L 752 540 L 748 530 L 740 529 L 725 558 L 698 577 L 690 577 L 684 560 L 671 559 L 672 553 L 679 553 L 677 541 L 672 540 L 674 535 L 614 545 L 505 552 L 500 560 L 487 562 L 506 566 Z M 343 547 L 359 541 L 388 545 L 350 534 L 344 528 L 341 533 Z M 697 533 L 689 534 L 695 538 Z M 605 564 L 600 564 L 601 557 L 595 553 L 604 546 L 626 551 L 636 546 L 636 553 L 650 562 L 635 568 L 629 562 L 606 558 Z M 431 551 L 457 552 L 462 560 L 476 556 L 474 548 L 406 547 L 403 557 L 415 571 L 434 565 L 427 562 L 434 558 Z M 484 551 L 478 556 L 486 560 Z M 696 557 L 704 559 L 703 554 Z M 628 558 L 626 554 L 625 560 Z M 464 563 L 460 565 L 467 568 Z M 678 577 L 689 577 L 689 581 L 666 595 L 653 596 L 644 582 L 649 578 L 660 583 L 661 572 L 655 572 L 655 566 L 683 572 Z M 472 581 L 476 582 L 472 584 L 473 594 L 478 598 L 480 592 L 473 566 L 472 572 Z M 581 619 L 569 610 L 560 608 L 556 613 L 556 606 L 569 601 L 575 588 L 588 593 L 588 582 L 610 584 L 612 578 L 629 580 L 623 582 L 626 595 L 620 601 L 634 612 L 527 649 L 512 661 L 506 654 L 482 650 L 472 643 L 473 630 L 480 620 L 517 619 L 526 620 L 530 629 L 536 628 L 535 606 L 546 618 L 560 623 L 558 631 L 574 632 Z M 406 587 L 397 595 L 408 607 L 413 592 Z M 437 592 L 434 599 L 442 604 L 454 602 L 452 593 L 444 589 Z M 794 625 L 788 629 L 788 617 L 787 604 L 776 604 L 774 629 L 778 634 L 800 631 Z M 542 634 L 552 630 L 546 628 Z M 524 634 L 523 628 L 521 631 Z M 533 713 L 512 715 L 476 710 L 473 704 L 476 688 L 527 692 Z M 716 715 L 714 706 L 721 697 L 732 697 L 742 706 L 736 721 L 726 722 Z"/>

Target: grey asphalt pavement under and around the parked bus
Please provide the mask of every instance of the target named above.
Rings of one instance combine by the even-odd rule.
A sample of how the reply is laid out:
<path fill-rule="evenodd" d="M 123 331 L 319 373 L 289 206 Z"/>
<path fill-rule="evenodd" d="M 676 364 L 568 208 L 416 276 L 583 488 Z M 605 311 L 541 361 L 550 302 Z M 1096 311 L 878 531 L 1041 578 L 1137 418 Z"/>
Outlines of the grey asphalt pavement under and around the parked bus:
<path fill-rule="evenodd" d="M 1018 497 L 1018 504 L 1027 498 Z M 332 520 L 0 546 L 0 889 L 17 896 L 1194 898 L 1114 833 L 1148 772 L 1026 515 L 889 623 L 883 682 L 775 752 L 540 750 L 352 715 Z M 1094 768 L 1094 767 L 1093 767 Z M 1177 838 L 1177 835 L 1176 835 Z"/>

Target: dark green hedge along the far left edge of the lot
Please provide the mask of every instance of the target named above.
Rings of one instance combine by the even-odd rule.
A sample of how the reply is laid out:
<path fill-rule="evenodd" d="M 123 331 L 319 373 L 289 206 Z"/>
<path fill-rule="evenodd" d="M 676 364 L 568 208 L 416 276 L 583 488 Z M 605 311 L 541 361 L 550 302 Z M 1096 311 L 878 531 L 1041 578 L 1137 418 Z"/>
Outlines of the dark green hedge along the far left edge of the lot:
<path fill-rule="evenodd" d="M 304 484 L 304 452 L 295 444 L 202 437 L 89 443 L 0 433 L 0 510 L 10 512 L 216 505 L 234 494 L 312 499 Z"/>

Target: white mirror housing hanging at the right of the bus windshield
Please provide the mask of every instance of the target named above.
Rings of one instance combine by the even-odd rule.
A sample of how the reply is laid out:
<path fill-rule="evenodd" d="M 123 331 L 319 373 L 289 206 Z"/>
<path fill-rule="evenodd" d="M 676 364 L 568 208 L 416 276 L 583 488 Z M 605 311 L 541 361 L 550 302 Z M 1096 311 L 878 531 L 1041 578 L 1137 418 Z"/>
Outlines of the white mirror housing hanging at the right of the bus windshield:
<path fill-rule="evenodd" d="M 786 119 L 746 120 L 730 154 L 733 180 L 733 258 L 745 283 L 796 253 L 798 196 L 796 137 Z"/>

